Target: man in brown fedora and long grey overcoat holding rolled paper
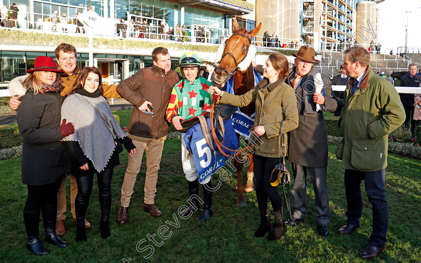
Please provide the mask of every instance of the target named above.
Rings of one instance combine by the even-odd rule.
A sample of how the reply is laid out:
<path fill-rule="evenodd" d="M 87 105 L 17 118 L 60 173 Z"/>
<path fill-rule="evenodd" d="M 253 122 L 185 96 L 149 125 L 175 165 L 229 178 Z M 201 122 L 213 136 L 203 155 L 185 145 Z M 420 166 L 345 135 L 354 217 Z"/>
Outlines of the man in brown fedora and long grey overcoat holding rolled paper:
<path fill-rule="evenodd" d="M 302 46 L 295 57 L 295 67 L 285 82 L 291 85 L 298 101 L 298 128 L 290 131 L 288 160 L 292 163 L 294 185 L 292 187 L 292 216 L 295 222 L 306 217 L 306 176 L 311 176 L 314 187 L 317 215 L 315 216 L 319 234 L 329 234 L 329 197 L 327 193 L 327 131 L 323 116 L 326 112 L 335 112 L 342 108 L 341 102 L 332 92 L 330 79 L 318 73 L 314 63 L 314 49 Z M 317 81 L 316 81 L 317 80 Z M 316 83 L 317 82 L 317 83 Z M 316 92 L 316 85 L 323 85 L 321 93 Z M 317 105 L 318 104 L 318 105 Z M 285 222 L 293 225 L 290 218 Z"/>

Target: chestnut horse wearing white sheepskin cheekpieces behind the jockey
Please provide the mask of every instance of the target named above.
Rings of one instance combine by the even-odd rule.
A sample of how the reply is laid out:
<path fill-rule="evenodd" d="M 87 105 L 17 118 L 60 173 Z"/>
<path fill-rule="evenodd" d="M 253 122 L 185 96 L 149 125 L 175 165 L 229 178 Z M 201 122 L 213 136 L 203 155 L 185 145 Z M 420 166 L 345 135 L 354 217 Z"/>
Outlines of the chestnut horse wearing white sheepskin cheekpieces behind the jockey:
<path fill-rule="evenodd" d="M 256 47 L 252 45 L 251 39 L 259 33 L 261 26 L 262 23 L 248 32 L 244 28 L 239 28 L 237 19 L 235 18 L 233 22 L 233 35 L 225 41 L 225 45 L 221 43 L 222 45 L 218 50 L 216 61 L 220 61 L 220 63 L 215 69 L 214 82 L 223 84 L 233 76 L 235 95 L 242 95 L 255 86 L 252 61 L 256 54 Z M 250 116 L 256 111 L 255 103 L 253 102 L 248 106 L 241 107 L 240 110 Z M 247 153 L 246 158 L 248 160 L 244 161 L 249 163 L 246 188 L 243 186 L 242 176 L 245 162 L 239 162 L 237 158 L 234 158 L 234 167 L 237 170 L 238 182 L 236 205 L 240 207 L 247 205 L 244 191 L 253 191 L 253 155 Z"/>

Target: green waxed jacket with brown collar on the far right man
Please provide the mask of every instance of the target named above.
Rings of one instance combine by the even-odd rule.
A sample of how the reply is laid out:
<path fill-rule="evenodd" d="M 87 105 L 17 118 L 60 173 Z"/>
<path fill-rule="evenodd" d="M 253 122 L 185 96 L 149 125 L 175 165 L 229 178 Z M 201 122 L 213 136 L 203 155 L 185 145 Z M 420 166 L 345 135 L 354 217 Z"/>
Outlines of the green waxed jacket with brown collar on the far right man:
<path fill-rule="evenodd" d="M 378 171 L 387 167 L 387 138 L 403 123 L 405 111 L 396 89 L 370 66 L 354 94 L 353 83 L 350 78 L 345 89 L 338 123 L 344 137 L 336 157 L 344 169 Z"/>

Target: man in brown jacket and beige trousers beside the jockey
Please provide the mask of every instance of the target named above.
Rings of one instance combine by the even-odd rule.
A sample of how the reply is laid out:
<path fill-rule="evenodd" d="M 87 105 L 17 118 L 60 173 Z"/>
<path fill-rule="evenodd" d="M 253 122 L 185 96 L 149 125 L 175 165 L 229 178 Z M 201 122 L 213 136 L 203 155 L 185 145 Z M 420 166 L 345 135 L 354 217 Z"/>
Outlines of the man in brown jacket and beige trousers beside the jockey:
<path fill-rule="evenodd" d="M 155 206 L 154 197 L 159 163 L 169 126 L 165 112 L 172 87 L 180 79 L 177 72 L 171 70 L 171 59 L 166 48 L 155 48 L 152 51 L 152 60 L 152 67 L 139 69 L 133 76 L 120 82 L 117 88 L 117 92 L 134 105 L 127 136 L 132 139 L 138 153 L 134 157 L 129 156 L 124 175 L 121 205 L 117 215 L 120 224 L 127 223 L 130 198 L 142 164 L 143 151 L 146 151 L 147 169 L 144 210 L 154 217 L 162 215 Z"/>

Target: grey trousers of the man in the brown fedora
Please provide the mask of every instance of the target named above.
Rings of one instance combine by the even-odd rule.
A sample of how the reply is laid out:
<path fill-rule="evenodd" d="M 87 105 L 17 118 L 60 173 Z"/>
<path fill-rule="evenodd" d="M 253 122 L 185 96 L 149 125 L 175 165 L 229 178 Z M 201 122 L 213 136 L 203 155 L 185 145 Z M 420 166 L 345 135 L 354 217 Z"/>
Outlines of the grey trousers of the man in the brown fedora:
<path fill-rule="evenodd" d="M 304 220 L 306 217 L 306 177 L 307 171 L 313 182 L 317 224 L 327 225 L 330 219 L 329 195 L 327 192 L 327 168 L 307 167 L 292 164 L 294 185 L 292 186 L 292 216 Z"/>

